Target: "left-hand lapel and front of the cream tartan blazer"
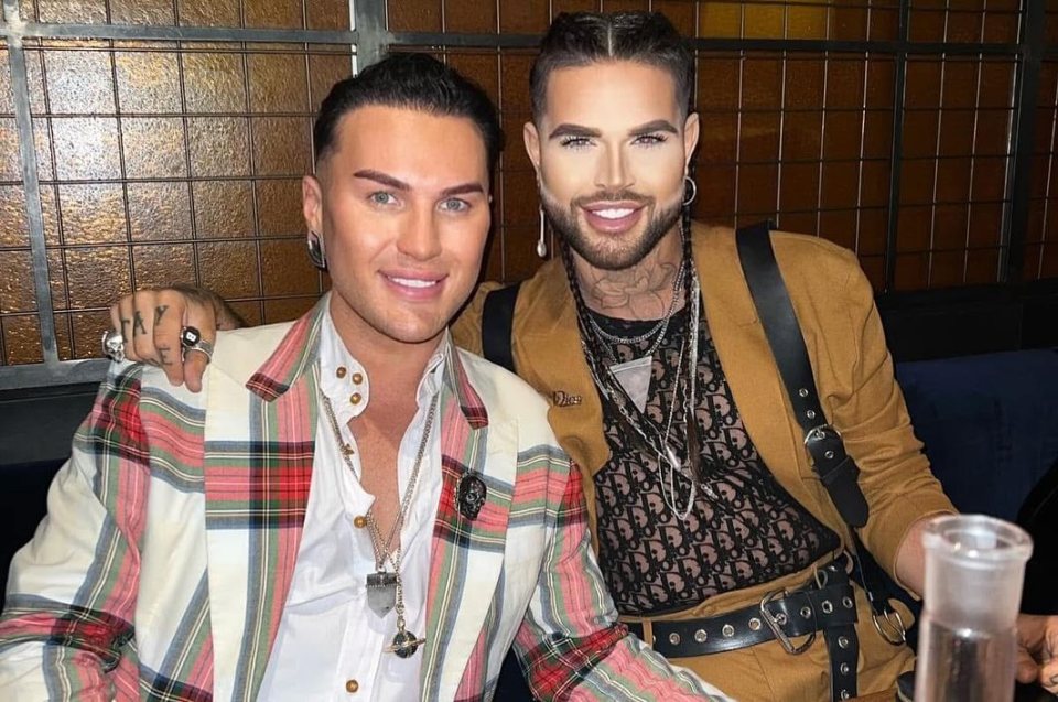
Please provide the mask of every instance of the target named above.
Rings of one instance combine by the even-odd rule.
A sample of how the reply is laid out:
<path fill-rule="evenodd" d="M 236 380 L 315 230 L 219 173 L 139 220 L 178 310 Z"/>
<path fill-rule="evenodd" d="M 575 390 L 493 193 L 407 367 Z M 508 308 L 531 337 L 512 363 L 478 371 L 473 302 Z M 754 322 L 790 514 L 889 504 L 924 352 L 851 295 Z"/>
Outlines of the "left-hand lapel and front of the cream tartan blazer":
<path fill-rule="evenodd" d="M 256 699 L 290 588 L 312 478 L 324 304 L 292 326 L 225 339 L 209 366 L 204 464 L 217 700 Z"/>

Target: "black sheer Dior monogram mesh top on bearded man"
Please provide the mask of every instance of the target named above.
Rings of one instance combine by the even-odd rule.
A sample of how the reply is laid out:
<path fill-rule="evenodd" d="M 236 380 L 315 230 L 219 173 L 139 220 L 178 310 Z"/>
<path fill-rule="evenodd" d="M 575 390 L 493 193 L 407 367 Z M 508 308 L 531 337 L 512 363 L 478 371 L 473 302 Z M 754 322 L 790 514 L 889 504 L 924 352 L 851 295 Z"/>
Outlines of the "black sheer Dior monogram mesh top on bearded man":
<path fill-rule="evenodd" d="M 654 322 L 592 313 L 607 333 L 635 337 Z M 654 355 L 645 417 L 661 433 L 672 409 L 673 382 L 687 334 L 687 309 L 677 312 Z M 649 352 L 652 339 L 611 343 L 618 363 Z M 838 534 L 808 512 L 775 479 L 757 454 L 724 378 L 704 312 L 700 324 L 694 421 L 702 453 L 702 485 L 680 519 L 689 474 L 670 471 L 656 451 L 636 440 L 614 406 L 603 400 L 611 458 L 595 474 L 600 565 L 617 609 L 658 615 L 705 598 L 796 572 L 834 550 Z M 687 375 L 684 358 L 681 374 Z M 680 398 L 685 393 L 680 384 Z M 668 443 L 687 464 L 685 402 L 678 402 Z"/>

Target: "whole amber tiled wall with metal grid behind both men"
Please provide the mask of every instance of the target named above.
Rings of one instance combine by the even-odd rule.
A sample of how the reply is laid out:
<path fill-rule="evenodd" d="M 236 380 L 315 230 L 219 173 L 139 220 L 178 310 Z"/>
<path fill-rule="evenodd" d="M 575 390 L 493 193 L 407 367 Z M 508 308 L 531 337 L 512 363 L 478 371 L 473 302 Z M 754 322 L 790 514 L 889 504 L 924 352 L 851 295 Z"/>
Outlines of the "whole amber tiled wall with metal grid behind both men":
<path fill-rule="evenodd" d="M 1048 42 L 1058 42 L 1058 3 Z M 348 30 L 346 0 L 22 0 L 53 23 Z M 395 33 L 538 35 L 565 10 L 652 9 L 699 45 L 699 218 L 770 217 L 857 251 L 885 284 L 892 144 L 903 126 L 893 287 L 1000 280 L 1011 204 L 1019 0 L 913 0 L 903 122 L 897 0 L 390 0 Z M 759 40 L 840 42 L 777 50 Z M 712 43 L 710 43 L 712 42 Z M 726 42 L 726 43 L 724 43 Z M 940 44 L 982 52 L 940 52 Z M 723 45 L 721 45 L 723 44 Z M 881 45 L 875 44 L 875 47 Z M 1006 48 L 1004 48 L 1006 47 Z M 477 79 L 500 107 L 500 164 L 486 276 L 517 280 L 535 252 L 525 48 L 420 48 Z M 920 51 L 918 50 L 920 48 Z M 349 46 L 202 42 L 26 43 L 41 205 L 62 359 L 98 354 L 106 306 L 132 287 L 208 285 L 251 322 L 289 318 L 327 281 L 303 255 L 299 177 L 315 106 Z M 41 360 L 18 134 L 0 45 L 0 364 Z M 1046 61 L 1024 272 L 1058 276 L 1058 62 Z M 553 249 L 552 249 L 553 250 Z"/>

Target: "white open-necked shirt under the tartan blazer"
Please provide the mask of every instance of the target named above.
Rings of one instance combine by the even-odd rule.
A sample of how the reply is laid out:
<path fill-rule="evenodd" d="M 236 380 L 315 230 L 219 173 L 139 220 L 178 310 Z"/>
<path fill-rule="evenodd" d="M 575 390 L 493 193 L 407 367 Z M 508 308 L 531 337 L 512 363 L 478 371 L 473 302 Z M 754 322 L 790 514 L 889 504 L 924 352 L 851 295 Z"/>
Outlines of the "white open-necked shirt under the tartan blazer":
<path fill-rule="evenodd" d="M 447 337 L 419 382 L 419 409 L 400 442 L 397 479 L 403 497 L 432 399 L 441 388 Z M 326 313 L 320 337 L 320 391 L 331 400 L 343 441 L 356 449 L 347 424 L 367 408 L 373 388 L 367 371 L 338 336 Z M 386 388 L 378 388 L 386 392 Z M 366 579 L 376 571 L 366 527 L 354 525 L 375 497 L 357 476 L 359 451 L 350 456 L 356 475 L 342 458 L 331 421 L 319 402 L 316 444 L 305 523 L 293 581 L 272 647 L 260 700 L 396 702 L 419 699 L 422 648 L 410 658 L 384 649 L 397 634 L 397 613 L 379 617 L 367 606 Z M 401 528 L 400 563 L 407 629 L 425 634 L 431 538 L 441 497 L 440 408 L 427 440 L 419 485 Z M 385 536 L 385 534 L 384 534 Z M 387 570 L 392 565 L 387 563 Z"/>

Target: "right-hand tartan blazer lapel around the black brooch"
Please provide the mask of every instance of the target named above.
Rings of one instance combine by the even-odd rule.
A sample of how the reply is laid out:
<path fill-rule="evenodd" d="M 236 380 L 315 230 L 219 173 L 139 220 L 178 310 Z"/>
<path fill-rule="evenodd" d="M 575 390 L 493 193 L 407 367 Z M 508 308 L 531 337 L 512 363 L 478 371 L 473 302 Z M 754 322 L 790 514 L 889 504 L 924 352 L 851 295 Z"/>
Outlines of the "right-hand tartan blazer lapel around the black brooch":
<path fill-rule="evenodd" d="M 422 700 L 453 700 L 497 600 L 517 472 L 517 426 L 489 421 L 452 347 L 442 390 L 441 501 L 433 530 Z M 474 519 L 460 512 L 460 479 L 474 472 L 486 501 Z M 482 676 L 484 678 L 484 676 Z"/>

